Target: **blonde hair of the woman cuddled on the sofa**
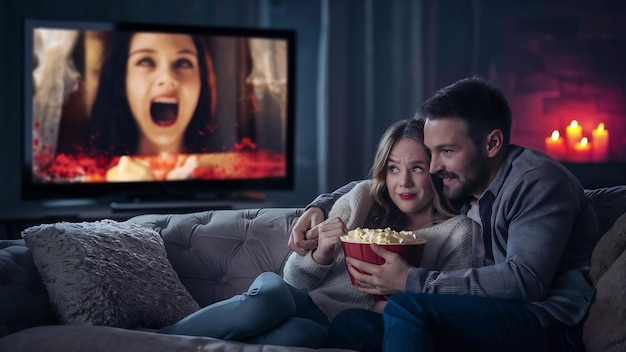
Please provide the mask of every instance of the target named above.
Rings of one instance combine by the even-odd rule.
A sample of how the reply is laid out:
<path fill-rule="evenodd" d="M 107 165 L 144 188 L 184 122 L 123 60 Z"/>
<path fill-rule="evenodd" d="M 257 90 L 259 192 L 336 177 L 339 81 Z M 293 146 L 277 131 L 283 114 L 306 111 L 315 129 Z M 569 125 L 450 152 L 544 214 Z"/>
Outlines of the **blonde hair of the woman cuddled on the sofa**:
<path fill-rule="evenodd" d="M 374 198 L 374 206 L 368 217 L 371 224 L 367 226 L 377 228 L 391 227 L 396 230 L 403 230 L 408 222 L 405 214 L 398 209 L 389 197 L 386 184 L 387 163 L 391 148 L 393 148 L 396 142 L 405 138 L 419 143 L 424 148 L 428 162 L 430 162 L 430 152 L 424 145 L 424 122 L 422 120 L 400 120 L 387 128 L 378 143 L 374 164 L 370 170 L 370 178 L 372 179 L 370 192 Z M 455 207 L 443 196 L 441 180 L 431 175 L 430 184 L 434 195 L 432 202 L 433 224 L 458 214 Z"/>

